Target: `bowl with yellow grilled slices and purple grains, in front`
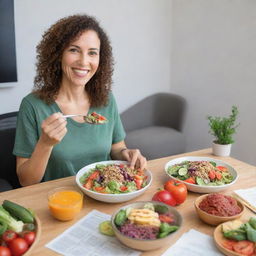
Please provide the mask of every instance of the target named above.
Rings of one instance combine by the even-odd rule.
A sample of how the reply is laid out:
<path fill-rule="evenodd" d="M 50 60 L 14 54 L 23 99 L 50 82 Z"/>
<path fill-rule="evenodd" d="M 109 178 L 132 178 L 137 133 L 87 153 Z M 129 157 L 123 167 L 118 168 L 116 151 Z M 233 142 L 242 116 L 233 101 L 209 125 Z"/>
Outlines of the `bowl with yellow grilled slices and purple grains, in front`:
<path fill-rule="evenodd" d="M 150 251 L 170 244 L 180 231 L 182 217 L 167 204 L 145 201 L 115 211 L 111 224 L 121 243 L 136 250 Z"/>

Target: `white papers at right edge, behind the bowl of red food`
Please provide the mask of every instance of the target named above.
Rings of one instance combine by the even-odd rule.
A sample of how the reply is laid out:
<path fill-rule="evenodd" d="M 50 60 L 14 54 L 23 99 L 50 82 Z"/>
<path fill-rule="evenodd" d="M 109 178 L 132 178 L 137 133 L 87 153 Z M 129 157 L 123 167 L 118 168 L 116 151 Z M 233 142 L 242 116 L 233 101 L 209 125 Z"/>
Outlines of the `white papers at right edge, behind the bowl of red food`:
<path fill-rule="evenodd" d="M 256 187 L 238 189 L 234 191 L 235 196 L 240 199 L 248 208 L 256 213 Z"/>

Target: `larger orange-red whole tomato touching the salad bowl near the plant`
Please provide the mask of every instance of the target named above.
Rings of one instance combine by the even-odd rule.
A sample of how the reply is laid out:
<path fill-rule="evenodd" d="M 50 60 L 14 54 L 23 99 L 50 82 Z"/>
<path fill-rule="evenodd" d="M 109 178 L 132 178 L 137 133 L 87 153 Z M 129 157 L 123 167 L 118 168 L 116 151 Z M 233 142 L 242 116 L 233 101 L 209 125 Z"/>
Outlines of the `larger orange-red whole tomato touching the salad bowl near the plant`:
<path fill-rule="evenodd" d="M 188 190 L 183 183 L 175 180 L 168 180 L 164 184 L 164 189 L 172 194 L 177 204 L 182 204 L 187 198 Z"/>

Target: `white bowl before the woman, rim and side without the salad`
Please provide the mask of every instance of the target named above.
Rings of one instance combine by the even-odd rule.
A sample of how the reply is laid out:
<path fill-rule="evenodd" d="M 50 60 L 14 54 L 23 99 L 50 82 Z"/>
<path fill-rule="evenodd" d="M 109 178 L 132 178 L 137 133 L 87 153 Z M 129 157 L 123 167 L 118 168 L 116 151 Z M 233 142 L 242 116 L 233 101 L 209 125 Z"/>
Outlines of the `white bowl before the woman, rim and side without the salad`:
<path fill-rule="evenodd" d="M 83 167 L 81 170 L 78 171 L 76 174 L 76 183 L 79 186 L 79 188 L 89 197 L 96 199 L 98 201 L 106 202 L 106 203 L 121 203 L 121 202 L 126 202 L 129 201 L 133 198 L 136 198 L 140 195 L 142 195 L 151 185 L 152 183 L 152 174 L 149 170 L 145 170 L 145 175 L 147 176 L 147 185 L 137 191 L 129 192 L 129 193 L 123 193 L 123 194 L 103 194 L 103 193 L 98 193 L 89 189 L 86 189 L 83 187 L 83 185 L 80 182 L 81 176 L 83 176 L 86 172 L 89 172 L 92 168 L 95 168 L 96 165 L 98 164 L 128 164 L 126 161 L 102 161 L 102 162 L 97 162 L 93 163 L 90 165 L 87 165 Z"/>

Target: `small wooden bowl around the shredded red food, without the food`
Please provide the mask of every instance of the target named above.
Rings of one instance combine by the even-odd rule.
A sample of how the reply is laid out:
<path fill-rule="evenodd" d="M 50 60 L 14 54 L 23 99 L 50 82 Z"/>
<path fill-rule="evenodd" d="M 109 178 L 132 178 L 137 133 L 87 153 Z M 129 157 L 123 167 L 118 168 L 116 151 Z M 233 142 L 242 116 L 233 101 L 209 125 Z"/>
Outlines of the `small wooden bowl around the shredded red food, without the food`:
<path fill-rule="evenodd" d="M 228 216 L 228 217 L 221 217 L 221 216 L 216 216 L 216 215 L 213 215 L 213 214 L 209 214 L 209 213 L 207 213 L 207 212 L 201 210 L 201 209 L 199 208 L 199 204 L 200 204 L 201 201 L 202 201 L 203 199 L 205 199 L 208 195 L 209 195 L 209 194 L 199 196 L 199 197 L 195 200 L 195 202 L 194 202 L 195 209 L 196 209 L 196 212 L 197 212 L 199 218 L 200 218 L 202 221 L 204 221 L 205 223 L 210 224 L 210 225 L 212 225 L 212 226 L 217 226 L 217 225 L 219 225 L 219 224 L 221 224 L 221 223 L 223 223 L 223 222 L 230 221 L 230 220 L 234 220 L 234 219 L 238 219 L 238 218 L 240 218 L 240 217 L 243 215 L 243 213 L 244 213 L 244 211 L 245 211 L 245 207 L 244 207 L 244 205 L 243 205 L 240 201 L 238 201 L 238 200 L 237 200 L 236 198 L 234 198 L 234 197 L 232 197 L 232 198 L 234 198 L 234 199 L 237 201 L 238 206 L 242 209 L 242 211 L 241 211 L 240 213 L 236 214 L 236 215 Z"/>

